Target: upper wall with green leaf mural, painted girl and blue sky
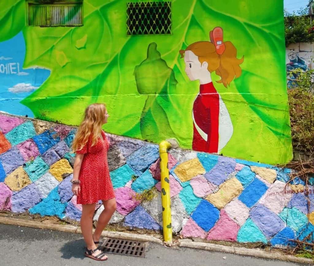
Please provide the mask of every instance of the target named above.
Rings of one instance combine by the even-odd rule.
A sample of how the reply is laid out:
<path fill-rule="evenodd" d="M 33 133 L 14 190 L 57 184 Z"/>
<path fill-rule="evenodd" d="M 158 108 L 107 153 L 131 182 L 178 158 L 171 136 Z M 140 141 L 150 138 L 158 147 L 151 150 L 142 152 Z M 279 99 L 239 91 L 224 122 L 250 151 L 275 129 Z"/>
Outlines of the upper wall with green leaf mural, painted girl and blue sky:
<path fill-rule="evenodd" d="M 0 110 L 78 125 L 105 102 L 113 134 L 288 162 L 283 2 L 160 2 L 171 34 L 128 35 L 122 0 L 84 0 L 81 27 L 26 26 L 25 0 L 1 1 Z"/>

